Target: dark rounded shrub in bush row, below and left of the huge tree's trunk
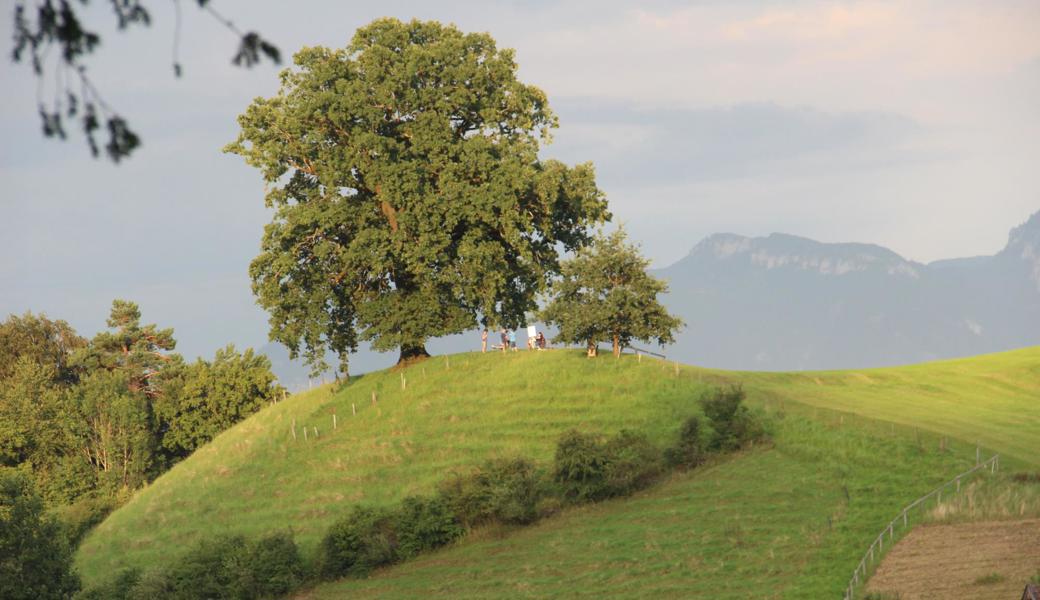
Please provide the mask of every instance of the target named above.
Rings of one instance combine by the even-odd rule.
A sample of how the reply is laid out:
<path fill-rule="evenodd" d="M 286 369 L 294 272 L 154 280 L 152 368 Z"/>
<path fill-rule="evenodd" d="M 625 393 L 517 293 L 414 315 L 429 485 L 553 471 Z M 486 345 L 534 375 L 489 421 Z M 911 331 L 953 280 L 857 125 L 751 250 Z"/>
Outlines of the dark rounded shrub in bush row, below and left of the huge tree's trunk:
<path fill-rule="evenodd" d="M 355 506 L 333 523 L 321 540 L 318 569 L 326 579 L 363 576 L 399 558 L 394 515 L 386 510 Z"/>

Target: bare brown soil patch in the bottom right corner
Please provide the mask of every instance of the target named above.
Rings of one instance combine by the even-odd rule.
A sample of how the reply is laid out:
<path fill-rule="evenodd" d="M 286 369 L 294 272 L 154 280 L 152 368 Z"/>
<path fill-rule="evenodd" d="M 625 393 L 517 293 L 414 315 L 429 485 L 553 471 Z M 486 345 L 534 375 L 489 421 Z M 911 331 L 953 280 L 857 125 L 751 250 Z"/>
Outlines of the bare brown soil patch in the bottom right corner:
<path fill-rule="evenodd" d="M 892 548 L 866 589 L 900 600 L 1006 600 L 1038 569 L 1040 519 L 927 525 Z"/>

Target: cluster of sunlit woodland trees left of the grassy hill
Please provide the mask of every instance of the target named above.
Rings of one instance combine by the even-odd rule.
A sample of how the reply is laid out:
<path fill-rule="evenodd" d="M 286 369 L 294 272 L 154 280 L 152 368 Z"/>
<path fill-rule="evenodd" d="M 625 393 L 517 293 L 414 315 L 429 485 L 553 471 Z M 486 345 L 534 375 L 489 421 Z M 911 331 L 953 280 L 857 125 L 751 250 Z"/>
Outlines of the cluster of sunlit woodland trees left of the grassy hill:
<path fill-rule="evenodd" d="M 187 363 L 133 303 L 107 324 L 87 340 L 44 315 L 0 323 L 0 466 L 52 504 L 133 490 L 281 393 L 266 357 L 229 345 Z"/>

